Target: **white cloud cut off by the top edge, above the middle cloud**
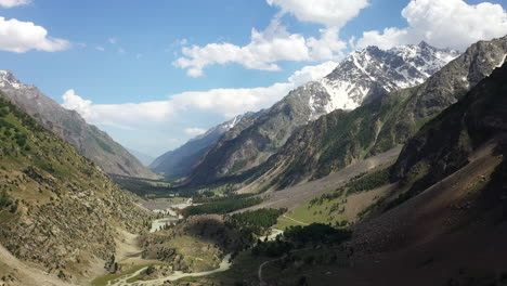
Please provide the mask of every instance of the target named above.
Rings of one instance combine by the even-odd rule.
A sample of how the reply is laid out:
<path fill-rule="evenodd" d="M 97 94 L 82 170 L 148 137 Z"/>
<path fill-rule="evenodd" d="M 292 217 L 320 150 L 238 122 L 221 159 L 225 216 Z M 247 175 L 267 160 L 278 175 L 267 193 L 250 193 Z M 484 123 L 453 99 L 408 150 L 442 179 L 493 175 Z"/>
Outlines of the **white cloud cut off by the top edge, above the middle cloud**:
<path fill-rule="evenodd" d="M 368 5 L 367 0 L 266 0 L 300 21 L 341 28 Z"/>

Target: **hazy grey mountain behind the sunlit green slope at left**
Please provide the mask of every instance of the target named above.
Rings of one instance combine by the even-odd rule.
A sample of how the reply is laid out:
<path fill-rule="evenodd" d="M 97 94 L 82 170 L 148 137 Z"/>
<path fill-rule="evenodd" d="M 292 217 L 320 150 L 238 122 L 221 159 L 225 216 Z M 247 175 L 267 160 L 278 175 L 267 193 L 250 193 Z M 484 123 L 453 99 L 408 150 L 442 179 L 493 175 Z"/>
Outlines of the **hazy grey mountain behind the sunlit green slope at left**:
<path fill-rule="evenodd" d="M 65 109 L 36 87 L 20 82 L 12 73 L 0 70 L 0 90 L 22 110 L 74 145 L 104 171 L 129 177 L 155 177 L 106 132 L 88 125 L 78 113 Z"/>

